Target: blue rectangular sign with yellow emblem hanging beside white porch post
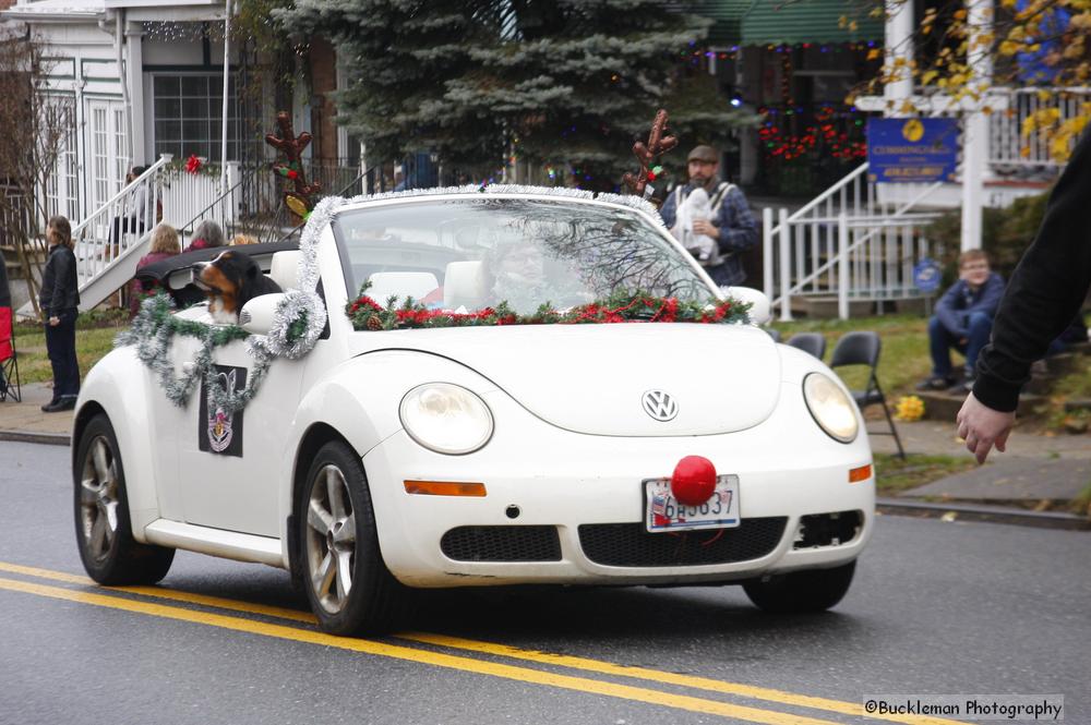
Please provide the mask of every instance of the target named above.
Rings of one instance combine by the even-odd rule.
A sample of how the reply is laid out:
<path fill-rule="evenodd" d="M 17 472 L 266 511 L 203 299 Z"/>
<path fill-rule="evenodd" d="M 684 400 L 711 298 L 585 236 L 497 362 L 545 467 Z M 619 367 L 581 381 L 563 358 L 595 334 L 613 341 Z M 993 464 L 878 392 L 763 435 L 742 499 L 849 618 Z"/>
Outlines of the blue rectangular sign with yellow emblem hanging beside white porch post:
<path fill-rule="evenodd" d="M 882 183 L 950 181 L 958 166 L 956 119 L 868 119 L 867 177 Z"/>

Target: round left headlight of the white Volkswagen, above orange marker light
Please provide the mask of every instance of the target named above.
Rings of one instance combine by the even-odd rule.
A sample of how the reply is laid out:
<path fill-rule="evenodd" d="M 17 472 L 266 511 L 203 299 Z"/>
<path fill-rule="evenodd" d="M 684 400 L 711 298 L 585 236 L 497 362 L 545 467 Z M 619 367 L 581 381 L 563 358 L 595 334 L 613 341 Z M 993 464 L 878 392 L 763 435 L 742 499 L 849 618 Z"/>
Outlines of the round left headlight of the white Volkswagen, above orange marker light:
<path fill-rule="evenodd" d="M 449 383 L 418 385 L 401 399 L 398 414 L 409 437 L 437 454 L 471 454 L 492 437 L 489 407 Z"/>

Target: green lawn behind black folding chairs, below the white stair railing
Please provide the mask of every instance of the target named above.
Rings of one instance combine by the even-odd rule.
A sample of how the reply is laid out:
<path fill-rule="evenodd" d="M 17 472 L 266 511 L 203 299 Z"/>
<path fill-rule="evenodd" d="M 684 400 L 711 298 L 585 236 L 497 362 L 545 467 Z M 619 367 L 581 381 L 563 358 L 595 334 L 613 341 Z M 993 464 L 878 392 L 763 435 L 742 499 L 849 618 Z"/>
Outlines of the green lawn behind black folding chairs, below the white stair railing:
<path fill-rule="evenodd" d="M 922 315 L 882 315 L 856 317 L 853 319 L 803 319 L 791 323 L 774 323 L 787 340 L 795 333 L 820 333 L 826 338 L 826 360 L 829 361 L 834 346 L 846 333 L 872 330 L 883 340 L 879 354 L 878 378 L 894 404 L 897 396 L 913 392 L 914 385 L 932 372 L 928 358 L 928 321 Z M 960 364 L 956 354 L 952 362 Z M 842 367 L 838 375 L 850 388 L 863 388 L 867 383 L 865 366 Z"/>

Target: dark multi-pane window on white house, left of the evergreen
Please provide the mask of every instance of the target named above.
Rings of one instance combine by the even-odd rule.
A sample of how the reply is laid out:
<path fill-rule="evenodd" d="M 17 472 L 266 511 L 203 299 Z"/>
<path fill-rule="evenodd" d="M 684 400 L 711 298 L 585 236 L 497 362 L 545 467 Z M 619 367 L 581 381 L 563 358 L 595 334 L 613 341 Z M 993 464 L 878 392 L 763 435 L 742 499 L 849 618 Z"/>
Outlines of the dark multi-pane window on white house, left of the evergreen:
<path fill-rule="evenodd" d="M 223 75 L 156 75 L 155 154 L 190 155 L 219 162 L 223 144 Z M 235 78 L 228 86 L 227 158 L 239 158 L 239 104 Z"/>

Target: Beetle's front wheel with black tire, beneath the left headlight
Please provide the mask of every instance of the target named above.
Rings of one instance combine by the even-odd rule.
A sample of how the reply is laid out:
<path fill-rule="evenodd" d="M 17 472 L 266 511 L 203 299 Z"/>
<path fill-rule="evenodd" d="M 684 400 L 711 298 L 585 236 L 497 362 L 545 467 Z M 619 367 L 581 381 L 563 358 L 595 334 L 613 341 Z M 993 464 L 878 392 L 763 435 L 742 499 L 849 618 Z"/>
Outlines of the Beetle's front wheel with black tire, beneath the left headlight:
<path fill-rule="evenodd" d="M 383 561 L 363 464 L 338 440 L 320 448 L 307 472 L 299 570 L 311 611 L 331 635 L 382 632 L 404 614 L 406 588 Z"/>

